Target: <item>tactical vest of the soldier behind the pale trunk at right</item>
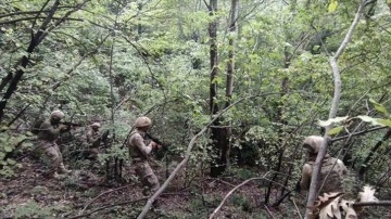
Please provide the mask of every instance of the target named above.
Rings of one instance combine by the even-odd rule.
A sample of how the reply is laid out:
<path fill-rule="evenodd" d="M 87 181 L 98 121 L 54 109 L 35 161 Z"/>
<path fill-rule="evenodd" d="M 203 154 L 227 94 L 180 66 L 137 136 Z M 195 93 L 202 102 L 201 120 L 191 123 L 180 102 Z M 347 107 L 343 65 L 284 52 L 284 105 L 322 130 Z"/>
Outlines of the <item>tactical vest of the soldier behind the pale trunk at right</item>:
<path fill-rule="evenodd" d="M 325 192 L 343 192 L 343 167 L 341 167 L 337 160 L 338 159 L 335 157 L 327 157 L 324 159 L 320 176 L 318 178 L 318 186 L 320 188 L 323 185 L 319 194 Z M 312 167 L 314 166 L 314 162 L 308 162 L 307 164 Z"/>

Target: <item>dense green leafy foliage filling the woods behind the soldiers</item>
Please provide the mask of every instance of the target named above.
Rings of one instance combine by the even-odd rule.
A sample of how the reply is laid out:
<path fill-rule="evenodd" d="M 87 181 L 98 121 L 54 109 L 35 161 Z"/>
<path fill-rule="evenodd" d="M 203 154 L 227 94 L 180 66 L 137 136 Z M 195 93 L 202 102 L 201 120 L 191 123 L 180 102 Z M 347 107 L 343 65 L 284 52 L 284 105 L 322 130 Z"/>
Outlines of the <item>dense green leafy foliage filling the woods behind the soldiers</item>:
<path fill-rule="evenodd" d="M 35 143 L 26 130 L 56 108 L 65 112 L 66 120 L 86 127 L 101 121 L 115 136 L 112 146 L 100 155 L 102 164 L 113 157 L 128 159 L 122 144 L 135 118 L 143 114 L 152 118 L 154 136 L 182 155 L 211 118 L 207 25 L 213 18 L 219 21 L 217 67 L 222 73 L 213 82 L 220 90 L 226 87 L 229 3 L 219 1 L 217 13 L 210 16 L 202 1 L 90 0 L 53 26 L 27 54 L 31 27 L 37 30 L 45 23 L 53 2 L 49 1 L 45 13 L 38 13 L 43 0 L 0 2 L 1 95 L 7 76 L 24 55 L 29 59 L 1 118 L 0 175 L 14 175 L 20 153 L 31 151 Z M 61 1 L 49 24 L 80 2 Z M 252 176 L 243 167 L 249 165 L 277 171 L 278 183 L 293 185 L 304 137 L 320 133 L 330 124 L 336 125 L 330 131 L 333 137 L 391 126 L 387 3 L 366 7 L 366 16 L 339 60 L 343 92 L 338 117 L 324 121 L 332 95 L 329 57 L 346 33 L 357 1 L 240 1 L 232 101 L 243 101 L 224 115 L 224 123 L 232 127 L 231 164 L 238 164 L 235 168 L 239 169 L 232 170 L 238 177 Z M 215 101 L 224 105 L 226 99 L 219 94 Z M 74 141 L 63 136 L 61 143 L 66 144 L 62 147 L 65 160 L 75 167 L 84 160 L 71 155 L 85 146 L 76 132 L 71 134 Z M 78 132 L 83 136 L 85 130 Z M 377 131 L 336 142 L 331 152 L 342 149 L 355 160 L 351 165 L 355 171 L 381 137 Z M 207 134 L 197 142 L 189 163 L 194 176 L 211 160 L 209 143 Z M 389 153 L 390 146 L 382 145 L 374 154 L 369 176 L 387 173 Z"/>

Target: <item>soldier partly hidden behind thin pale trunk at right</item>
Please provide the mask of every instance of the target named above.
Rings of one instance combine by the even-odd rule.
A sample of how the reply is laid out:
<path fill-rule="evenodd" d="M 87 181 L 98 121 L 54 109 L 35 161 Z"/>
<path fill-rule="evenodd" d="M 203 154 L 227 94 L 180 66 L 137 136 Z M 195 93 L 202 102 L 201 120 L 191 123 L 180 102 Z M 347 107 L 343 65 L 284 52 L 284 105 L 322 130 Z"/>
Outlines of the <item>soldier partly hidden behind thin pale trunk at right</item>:
<path fill-rule="evenodd" d="M 313 165 L 324 141 L 326 140 L 323 137 L 310 136 L 305 138 L 303 142 L 303 147 L 308 153 L 308 162 L 303 166 L 300 183 L 301 189 L 304 191 L 310 189 Z M 319 176 L 319 186 L 323 185 L 323 188 L 320 188 L 320 194 L 326 192 L 343 192 L 342 180 L 346 173 L 346 167 L 341 159 L 330 157 L 329 154 L 326 154 Z"/>

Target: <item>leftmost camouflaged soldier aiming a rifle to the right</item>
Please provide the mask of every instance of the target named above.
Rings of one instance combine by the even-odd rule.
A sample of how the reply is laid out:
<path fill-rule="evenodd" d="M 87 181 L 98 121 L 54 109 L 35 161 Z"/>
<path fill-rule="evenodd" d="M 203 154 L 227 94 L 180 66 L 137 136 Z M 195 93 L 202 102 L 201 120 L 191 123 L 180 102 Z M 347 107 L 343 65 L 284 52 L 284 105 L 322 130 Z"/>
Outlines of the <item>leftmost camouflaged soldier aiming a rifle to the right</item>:
<path fill-rule="evenodd" d="M 60 121 L 64 117 L 61 111 L 53 111 L 49 120 L 43 121 L 38 132 L 38 150 L 49 157 L 50 170 L 45 173 L 47 178 L 58 178 L 58 173 L 70 173 L 71 170 L 65 169 L 63 157 L 55 140 L 60 133 L 71 130 L 71 126 L 61 125 Z"/>

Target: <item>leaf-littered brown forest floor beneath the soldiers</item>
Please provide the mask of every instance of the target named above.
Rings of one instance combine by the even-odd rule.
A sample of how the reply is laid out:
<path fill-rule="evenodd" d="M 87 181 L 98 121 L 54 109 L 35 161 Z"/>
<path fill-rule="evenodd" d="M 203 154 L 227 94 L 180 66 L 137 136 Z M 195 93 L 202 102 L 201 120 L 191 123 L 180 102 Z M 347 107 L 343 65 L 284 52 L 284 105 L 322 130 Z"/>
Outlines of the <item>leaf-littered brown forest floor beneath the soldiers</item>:
<path fill-rule="evenodd" d="M 93 173 L 93 168 L 76 170 L 75 165 L 71 175 L 48 180 L 42 177 L 40 162 L 25 157 L 21 164 L 13 177 L 0 180 L 0 218 L 136 218 L 147 201 L 129 166 L 123 173 L 126 182 L 117 183 L 105 181 Z M 156 172 L 162 183 L 166 179 L 164 168 Z M 234 176 L 200 179 L 182 170 L 147 218 L 209 218 L 226 194 L 243 181 Z M 294 206 L 265 207 L 262 194 L 256 180 L 244 184 L 215 218 L 300 218 Z"/>

